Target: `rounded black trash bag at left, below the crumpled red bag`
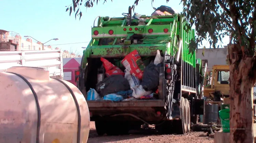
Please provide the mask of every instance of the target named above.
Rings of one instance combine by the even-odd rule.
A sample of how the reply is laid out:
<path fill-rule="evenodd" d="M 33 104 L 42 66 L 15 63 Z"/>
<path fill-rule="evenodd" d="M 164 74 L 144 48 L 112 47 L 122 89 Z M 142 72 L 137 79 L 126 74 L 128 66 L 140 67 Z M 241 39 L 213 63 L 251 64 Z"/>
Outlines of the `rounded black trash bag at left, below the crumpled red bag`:
<path fill-rule="evenodd" d="M 123 75 L 111 75 L 96 85 L 96 91 L 101 97 L 126 90 L 130 90 L 130 85 Z"/>

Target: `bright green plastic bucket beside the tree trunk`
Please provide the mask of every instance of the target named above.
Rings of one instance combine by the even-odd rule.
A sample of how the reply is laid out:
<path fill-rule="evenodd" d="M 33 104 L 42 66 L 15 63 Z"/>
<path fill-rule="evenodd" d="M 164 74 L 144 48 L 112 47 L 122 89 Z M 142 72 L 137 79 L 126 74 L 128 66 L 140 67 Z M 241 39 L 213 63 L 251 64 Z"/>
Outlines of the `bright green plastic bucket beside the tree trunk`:
<path fill-rule="evenodd" d="M 219 111 L 219 118 L 221 119 L 223 132 L 230 132 L 229 112 L 230 112 L 229 109 L 224 109 Z"/>

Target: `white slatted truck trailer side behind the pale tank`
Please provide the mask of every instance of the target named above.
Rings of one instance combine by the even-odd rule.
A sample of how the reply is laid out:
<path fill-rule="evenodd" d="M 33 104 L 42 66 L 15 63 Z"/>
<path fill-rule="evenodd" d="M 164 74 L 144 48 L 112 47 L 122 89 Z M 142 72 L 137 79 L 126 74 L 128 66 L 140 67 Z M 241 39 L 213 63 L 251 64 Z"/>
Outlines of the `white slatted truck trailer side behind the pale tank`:
<path fill-rule="evenodd" d="M 11 67 L 38 67 L 49 71 L 51 77 L 63 78 L 61 50 L 0 52 L 0 71 Z"/>

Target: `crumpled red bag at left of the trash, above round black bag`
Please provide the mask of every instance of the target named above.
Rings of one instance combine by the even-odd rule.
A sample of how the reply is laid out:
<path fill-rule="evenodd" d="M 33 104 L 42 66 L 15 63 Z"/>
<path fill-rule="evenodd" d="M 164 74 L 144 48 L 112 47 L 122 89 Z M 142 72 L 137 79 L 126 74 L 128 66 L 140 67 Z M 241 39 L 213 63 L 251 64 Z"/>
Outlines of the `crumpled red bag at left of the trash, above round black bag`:
<path fill-rule="evenodd" d="M 111 62 L 109 62 L 108 60 L 104 59 L 104 58 L 100 58 L 100 60 L 102 61 L 103 63 L 103 66 L 106 70 L 106 76 L 109 77 L 110 75 L 113 75 L 113 74 L 120 74 L 120 75 L 123 75 L 125 76 L 125 73 L 119 69 L 117 66 L 113 65 Z"/>

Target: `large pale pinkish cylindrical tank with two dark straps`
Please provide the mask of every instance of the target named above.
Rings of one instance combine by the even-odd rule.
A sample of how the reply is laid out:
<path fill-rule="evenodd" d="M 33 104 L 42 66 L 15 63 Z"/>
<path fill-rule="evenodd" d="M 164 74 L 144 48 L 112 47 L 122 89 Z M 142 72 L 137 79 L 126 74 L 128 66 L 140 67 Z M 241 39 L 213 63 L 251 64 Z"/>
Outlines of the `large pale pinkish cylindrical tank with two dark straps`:
<path fill-rule="evenodd" d="M 0 72 L 0 143 L 86 143 L 88 105 L 72 83 L 42 68 Z"/>

